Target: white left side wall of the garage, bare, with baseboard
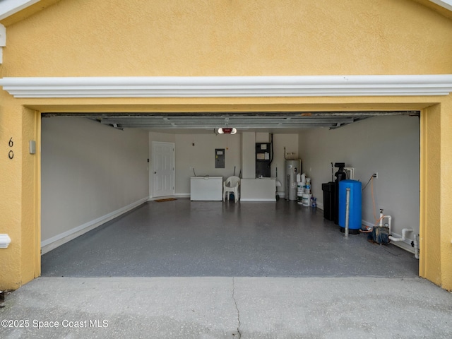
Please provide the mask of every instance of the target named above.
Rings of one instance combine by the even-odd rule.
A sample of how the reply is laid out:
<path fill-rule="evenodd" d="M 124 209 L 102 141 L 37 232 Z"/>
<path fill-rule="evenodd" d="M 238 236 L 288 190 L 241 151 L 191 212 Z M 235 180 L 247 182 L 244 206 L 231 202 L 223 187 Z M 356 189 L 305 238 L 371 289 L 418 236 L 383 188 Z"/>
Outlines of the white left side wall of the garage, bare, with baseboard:
<path fill-rule="evenodd" d="M 42 253 L 148 200 L 148 132 L 42 119 Z"/>

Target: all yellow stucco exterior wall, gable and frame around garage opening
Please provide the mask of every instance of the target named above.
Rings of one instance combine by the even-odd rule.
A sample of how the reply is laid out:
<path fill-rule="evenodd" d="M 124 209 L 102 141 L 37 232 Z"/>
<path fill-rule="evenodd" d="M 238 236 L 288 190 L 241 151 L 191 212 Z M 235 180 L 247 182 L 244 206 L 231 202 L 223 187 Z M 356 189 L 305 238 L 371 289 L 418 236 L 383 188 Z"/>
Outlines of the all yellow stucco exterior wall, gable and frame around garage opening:
<path fill-rule="evenodd" d="M 411 0 L 61 0 L 3 23 L 2 78 L 452 73 L 451 18 Z M 452 290 L 451 95 L 16 99 L 4 90 L 0 233 L 12 242 L 0 249 L 0 289 L 40 275 L 40 111 L 287 109 L 422 109 L 420 275 Z"/>

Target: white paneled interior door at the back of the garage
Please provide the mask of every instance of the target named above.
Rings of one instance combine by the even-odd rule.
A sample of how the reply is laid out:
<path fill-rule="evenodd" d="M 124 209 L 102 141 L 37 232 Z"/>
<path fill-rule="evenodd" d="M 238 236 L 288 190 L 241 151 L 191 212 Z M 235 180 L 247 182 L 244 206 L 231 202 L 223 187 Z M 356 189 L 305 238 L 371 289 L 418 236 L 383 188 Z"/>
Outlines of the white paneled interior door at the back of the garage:
<path fill-rule="evenodd" d="M 153 142 L 153 197 L 174 196 L 174 143 Z"/>

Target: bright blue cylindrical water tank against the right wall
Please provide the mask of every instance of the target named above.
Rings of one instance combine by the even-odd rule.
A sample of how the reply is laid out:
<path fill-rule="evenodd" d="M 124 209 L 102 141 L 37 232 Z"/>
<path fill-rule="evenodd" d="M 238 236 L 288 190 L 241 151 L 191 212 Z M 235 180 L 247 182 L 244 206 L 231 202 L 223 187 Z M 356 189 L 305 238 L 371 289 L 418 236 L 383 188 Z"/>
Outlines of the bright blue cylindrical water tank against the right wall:
<path fill-rule="evenodd" d="M 357 180 L 342 180 L 339 182 L 339 226 L 340 231 L 345 230 L 345 208 L 347 206 L 347 189 L 350 189 L 350 207 L 348 215 L 348 232 L 359 234 L 361 229 L 362 210 L 362 184 Z"/>

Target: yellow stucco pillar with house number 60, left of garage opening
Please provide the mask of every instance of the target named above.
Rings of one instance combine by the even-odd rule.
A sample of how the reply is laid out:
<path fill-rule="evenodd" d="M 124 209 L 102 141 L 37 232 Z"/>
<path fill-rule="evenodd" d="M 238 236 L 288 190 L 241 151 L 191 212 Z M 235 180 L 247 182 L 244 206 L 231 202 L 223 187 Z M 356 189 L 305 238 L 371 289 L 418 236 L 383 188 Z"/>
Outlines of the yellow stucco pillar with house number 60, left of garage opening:
<path fill-rule="evenodd" d="M 0 290 L 18 288 L 40 275 L 39 156 L 28 150 L 38 127 L 34 111 L 14 105 L 10 97 L 0 100 L 0 233 L 11 238 L 8 249 L 0 251 Z"/>

